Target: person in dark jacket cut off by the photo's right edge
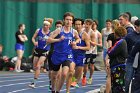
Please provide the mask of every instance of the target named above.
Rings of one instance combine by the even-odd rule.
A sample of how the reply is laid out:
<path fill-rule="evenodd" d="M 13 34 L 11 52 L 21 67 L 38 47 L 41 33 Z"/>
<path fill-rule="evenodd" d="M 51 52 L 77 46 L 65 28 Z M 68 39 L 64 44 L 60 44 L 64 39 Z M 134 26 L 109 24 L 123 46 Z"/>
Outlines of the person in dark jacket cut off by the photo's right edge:
<path fill-rule="evenodd" d="M 136 28 L 136 31 L 137 33 L 140 35 L 140 20 L 136 20 L 135 21 L 135 28 Z M 140 38 L 140 37 L 139 37 Z M 132 79 L 132 89 L 131 89 L 131 93 L 140 93 L 140 60 L 139 60 L 139 57 L 140 57 L 140 54 L 138 56 L 138 66 L 136 69 L 133 69 L 133 63 L 137 62 L 135 61 L 134 62 L 134 59 L 135 59 L 135 56 L 137 53 L 140 52 L 140 40 L 139 38 L 137 38 L 137 41 L 135 41 L 136 43 L 133 45 L 133 48 L 127 58 L 127 62 L 129 62 L 129 64 L 131 64 L 128 68 L 128 70 L 126 70 L 126 73 L 129 74 L 129 76 L 131 75 L 131 78 Z M 133 69 L 133 73 L 130 74 L 130 70 Z M 135 73 L 134 73 L 135 72 Z M 131 79 L 129 80 L 129 82 L 131 81 Z"/>

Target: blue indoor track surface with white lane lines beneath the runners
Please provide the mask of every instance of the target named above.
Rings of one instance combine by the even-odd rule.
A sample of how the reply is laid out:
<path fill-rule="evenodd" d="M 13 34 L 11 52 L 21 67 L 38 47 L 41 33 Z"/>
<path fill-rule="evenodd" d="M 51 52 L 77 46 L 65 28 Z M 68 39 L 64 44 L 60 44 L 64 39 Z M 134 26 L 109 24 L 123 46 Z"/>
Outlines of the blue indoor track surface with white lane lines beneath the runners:
<path fill-rule="evenodd" d="M 87 77 L 89 73 L 87 74 Z M 36 88 L 28 87 L 33 79 L 33 73 L 15 73 L 0 71 L 0 93 L 51 93 L 48 91 L 49 79 L 47 73 L 41 73 L 37 81 Z M 91 85 L 81 86 L 79 88 L 71 87 L 71 93 L 87 93 L 88 91 L 100 88 L 106 82 L 106 73 L 104 71 L 95 71 Z M 60 93 L 66 93 L 66 83 L 63 85 Z"/>

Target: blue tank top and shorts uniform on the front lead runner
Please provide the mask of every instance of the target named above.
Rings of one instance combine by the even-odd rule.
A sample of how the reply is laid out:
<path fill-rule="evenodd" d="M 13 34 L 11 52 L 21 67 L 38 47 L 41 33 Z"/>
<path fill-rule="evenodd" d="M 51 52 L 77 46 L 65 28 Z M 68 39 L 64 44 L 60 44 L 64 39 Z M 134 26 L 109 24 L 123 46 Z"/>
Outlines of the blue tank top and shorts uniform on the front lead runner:
<path fill-rule="evenodd" d="M 54 52 L 52 54 L 54 65 L 61 65 L 66 61 L 73 61 L 71 42 L 74 40 L 74 29 L 71 28 L 69 33 L 65 33 L 64 27 L 62 27 L 60 34 L 56 38 L 60 38 L 61 36 L 65 37 L 64 40 L 54 43 Z"/>

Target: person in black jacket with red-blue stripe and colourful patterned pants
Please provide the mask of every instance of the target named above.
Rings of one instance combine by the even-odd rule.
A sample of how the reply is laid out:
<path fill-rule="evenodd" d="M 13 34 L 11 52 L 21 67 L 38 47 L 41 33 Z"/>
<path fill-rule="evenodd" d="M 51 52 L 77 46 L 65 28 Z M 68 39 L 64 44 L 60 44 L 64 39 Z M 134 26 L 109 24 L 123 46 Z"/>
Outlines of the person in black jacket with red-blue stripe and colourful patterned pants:
<path fill-rule="evenodd" d="M 123 37 L 127 34 L 124 27 L 114 30 L 116 43 L 108 50 L 111 68 L 112 93 L 124 93 L 125 59 L 127 57 L 127 44 Z"/>

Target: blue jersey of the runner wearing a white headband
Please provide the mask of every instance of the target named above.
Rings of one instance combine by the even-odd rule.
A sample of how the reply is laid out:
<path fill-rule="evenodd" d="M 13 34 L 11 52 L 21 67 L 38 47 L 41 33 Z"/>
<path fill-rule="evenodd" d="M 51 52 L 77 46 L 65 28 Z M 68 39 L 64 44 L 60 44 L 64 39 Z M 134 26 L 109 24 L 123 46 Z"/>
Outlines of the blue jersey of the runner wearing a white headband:
<path fill-rule="evenodd" d="M 50 50 L 50 44 L 46 45 L 46 38 L 49 37 L 49 35 L 50 32 L 48 34 L 43 34 L 42 28 L 40 28 L 37 35 L 38 46 L 36 46 L 36 48 Z"/>

